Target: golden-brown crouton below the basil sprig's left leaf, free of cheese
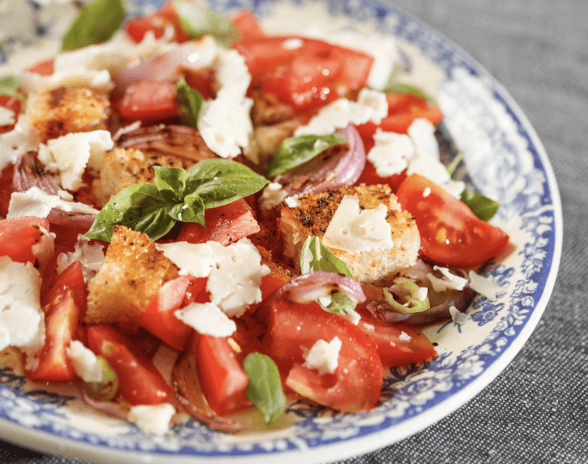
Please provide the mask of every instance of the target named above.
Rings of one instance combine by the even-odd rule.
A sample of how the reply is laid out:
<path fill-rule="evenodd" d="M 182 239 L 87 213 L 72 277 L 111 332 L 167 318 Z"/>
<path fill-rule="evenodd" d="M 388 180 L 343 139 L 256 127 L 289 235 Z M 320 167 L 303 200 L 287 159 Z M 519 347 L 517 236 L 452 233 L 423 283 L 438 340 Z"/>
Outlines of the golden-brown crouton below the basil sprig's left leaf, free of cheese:
<path fill-rule="evenodd" d="M 126 333 L 162 284 L 178 276 L 173 263 L 142 232 L 115 226 L 104 262 L 88 285 L 87 324 L 112 324 Z"/>

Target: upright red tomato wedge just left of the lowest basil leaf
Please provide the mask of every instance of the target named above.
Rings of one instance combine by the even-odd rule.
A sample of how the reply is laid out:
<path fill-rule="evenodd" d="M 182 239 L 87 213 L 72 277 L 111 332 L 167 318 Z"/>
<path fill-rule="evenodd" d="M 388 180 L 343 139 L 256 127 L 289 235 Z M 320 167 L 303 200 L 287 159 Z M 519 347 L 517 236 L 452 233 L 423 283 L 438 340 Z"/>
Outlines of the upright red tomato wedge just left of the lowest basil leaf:
<path fill-rule="evenodd" d="M 236 358 L 227 337 L 199 335 L 196 365 L 202 392 L 219 416 L 249 405 L 245 395 L 249 377 Z"/>

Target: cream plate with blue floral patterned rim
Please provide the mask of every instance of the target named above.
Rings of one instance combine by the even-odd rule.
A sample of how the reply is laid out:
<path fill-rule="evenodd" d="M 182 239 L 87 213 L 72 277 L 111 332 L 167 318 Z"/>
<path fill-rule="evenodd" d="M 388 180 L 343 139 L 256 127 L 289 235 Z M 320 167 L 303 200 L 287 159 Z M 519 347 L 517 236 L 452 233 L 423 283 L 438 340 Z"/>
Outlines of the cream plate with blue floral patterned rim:
<path fill-rule="evenodd" d="M 128 2 L 133 14 L 159 4 Z M 438 131 L 443 156 L 448 160 L 462 152 L 459 172 L 469 187 L 502 202 L 493 223 L 509 233 L 509 249 L 479 272 L 494 276 L 503 291 L 495 302 L 478 296 L 462 325 L 426 328 L 438 344 L 438 358 L 386 372 L 382 403 L 369 412 L 342 415 L 299 401 L 289 406 L 282 423 L 258 432 L 227 435 L 189 420 L 153 437 L 85 408 L 75 389 L 48 390 L 2 369 L 0 436 L 5 440 L 102 463 L 319 463 L 349 458 L 406 438 L 472 399 L 506 368 L 539 322 L 559 267 L 559 192 L 534 129 L 482 66 L 429 26 L 377 1 L 213 4 L 220 11 L 252 8 L 266 30 L 279 34 L 320 25 L 326 32 L 351 28 L 394 37 L 399 79 L 435 95 L 445 114 Z M 25 0 L 18 5 L 29 16 L 18 16 L 26 18 L 25 24 L 2 38 L 0 75 L 50 56 L 60 28 L 69 24 L 67 15 L 58 14 L 65 8 L 59 2 L 46 8 L 31 8 Z"/>

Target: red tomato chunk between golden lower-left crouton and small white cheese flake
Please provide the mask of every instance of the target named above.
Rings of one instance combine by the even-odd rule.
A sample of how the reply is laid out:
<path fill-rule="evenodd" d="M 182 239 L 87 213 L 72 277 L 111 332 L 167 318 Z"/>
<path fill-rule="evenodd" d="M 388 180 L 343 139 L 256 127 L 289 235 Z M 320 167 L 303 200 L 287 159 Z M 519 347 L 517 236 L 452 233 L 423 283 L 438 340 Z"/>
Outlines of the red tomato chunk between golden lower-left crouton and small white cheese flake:
<path fill-rule="evenodd" d="M 191 292 L 197 295 L 205 289 L 206 279 L 180 276 L 165 282 L 139 319 L 143 329 L 176 350 L 183 349 L 192 333 L 192 328 L 174 315 L 176 310 L 184 306 L 189 286 Z"/>

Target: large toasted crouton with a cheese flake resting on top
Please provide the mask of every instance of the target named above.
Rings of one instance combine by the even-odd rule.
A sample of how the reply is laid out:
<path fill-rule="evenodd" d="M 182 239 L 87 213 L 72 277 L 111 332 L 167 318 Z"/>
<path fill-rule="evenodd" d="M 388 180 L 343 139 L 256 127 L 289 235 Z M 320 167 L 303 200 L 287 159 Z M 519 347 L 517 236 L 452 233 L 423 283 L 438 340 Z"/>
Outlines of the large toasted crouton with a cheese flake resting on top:
<path fill-rule="evenodd" d="M 300 206 L 296 208 L 282 203 L 279 227 L 284 243 L 283 257 L 299 269 L 300 250 L 306 238 L 316 235 L 323 239 L 345 195 L 356 196 L 360 209 L 373 209 L 382 203 L 386 205 L 386 221 L 392 229 L 393 245 L 389 249 L 349 253 L 330 248 L 346 263 L 354 278 L 361 283 L 380 282 L 401 269 L 415 265 L 420 248 L 416 221 L 410 213 L 400 209 L 396 195 L 387 185 L 342 187 L 335 191 L 302 195 L 298 198 Z"/>

